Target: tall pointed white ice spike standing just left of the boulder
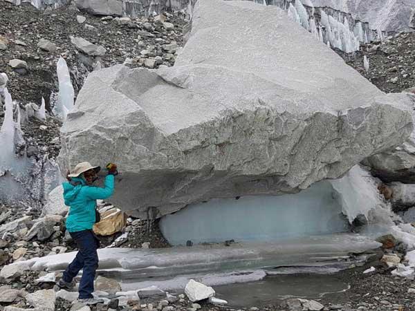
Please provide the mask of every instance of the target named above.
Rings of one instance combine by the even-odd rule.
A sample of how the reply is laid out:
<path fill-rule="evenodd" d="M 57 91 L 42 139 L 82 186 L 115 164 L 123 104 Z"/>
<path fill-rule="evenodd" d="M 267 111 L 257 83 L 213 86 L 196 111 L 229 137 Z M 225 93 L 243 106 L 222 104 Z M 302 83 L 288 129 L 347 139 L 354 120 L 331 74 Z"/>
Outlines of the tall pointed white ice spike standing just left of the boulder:
<path fill-rule="evenodd" d="M 57 95 L 57 103 L 54 112 L 65 121 L 66 115 L 73 109 L 75 92 L 73 91 L 68 66 L 66 65 L 65 59 L 62 57 L 60 57 L 57 62 L 57 78 L 59 80 L 59 93 Z"/>

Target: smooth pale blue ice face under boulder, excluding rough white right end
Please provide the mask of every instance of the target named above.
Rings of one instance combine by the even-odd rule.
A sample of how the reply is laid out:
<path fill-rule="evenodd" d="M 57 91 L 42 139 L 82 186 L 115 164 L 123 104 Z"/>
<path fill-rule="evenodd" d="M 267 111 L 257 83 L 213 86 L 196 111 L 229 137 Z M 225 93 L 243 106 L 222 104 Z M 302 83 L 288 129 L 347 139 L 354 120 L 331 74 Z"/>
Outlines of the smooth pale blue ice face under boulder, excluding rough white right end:
<path fill-rule="evenodd" d="M 273 241 L 310 234 L 347 232 L 340 201 L 329 182 L 299 194 L 214 199 L 161 218 L 173 245 L 235 241 Z"/>

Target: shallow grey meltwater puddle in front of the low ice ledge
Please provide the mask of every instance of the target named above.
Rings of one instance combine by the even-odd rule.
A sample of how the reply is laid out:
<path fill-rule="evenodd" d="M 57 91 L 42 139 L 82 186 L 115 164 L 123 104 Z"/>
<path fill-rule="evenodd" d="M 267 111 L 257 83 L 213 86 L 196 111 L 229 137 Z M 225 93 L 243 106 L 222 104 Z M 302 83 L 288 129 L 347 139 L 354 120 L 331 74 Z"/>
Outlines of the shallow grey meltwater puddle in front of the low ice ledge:
<path fill-rule="evenodd" d="M 290 297 L 318 299 L 324 294 L 344 292 L 349 285 L 335 275 L 286 274 L 262 281 L 215 286 L 216 297 L 232 307 L 272 305 Z"/>

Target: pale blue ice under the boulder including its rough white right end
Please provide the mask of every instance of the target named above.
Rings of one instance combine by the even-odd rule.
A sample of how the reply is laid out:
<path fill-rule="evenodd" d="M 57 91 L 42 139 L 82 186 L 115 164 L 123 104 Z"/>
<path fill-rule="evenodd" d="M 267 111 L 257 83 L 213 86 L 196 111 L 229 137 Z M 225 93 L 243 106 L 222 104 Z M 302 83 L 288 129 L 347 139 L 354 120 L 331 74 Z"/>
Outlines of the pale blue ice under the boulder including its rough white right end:
<path fill-rule="evenodd" d="M 348 223 L 387 209 L 369 173 L 353 167 L 338 180 L 318 182 L 299 194 L 217 198 L 163 216 L 169 243 L 273 241 L 309 234 L 347 232 Z M 347 216 L 347 221 L 346 217 Z"/>

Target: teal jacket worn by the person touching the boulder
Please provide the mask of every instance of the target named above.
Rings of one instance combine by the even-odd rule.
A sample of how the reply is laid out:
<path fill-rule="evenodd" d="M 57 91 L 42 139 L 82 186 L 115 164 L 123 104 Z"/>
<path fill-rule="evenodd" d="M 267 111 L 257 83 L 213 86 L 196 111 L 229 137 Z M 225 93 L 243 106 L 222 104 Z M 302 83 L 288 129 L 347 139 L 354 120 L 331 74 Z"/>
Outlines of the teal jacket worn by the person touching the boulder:
<path fill-rule="evenodd" d="M 92 229 L 95 223 L 96 200 L 104 200 L 113 194 L 114 176 L 109 175 L 105 178 L 104 188 L 86 185 L 82 178 L 72 178 L 73 182 L 80 185 L 71 185 L 64 182 L 64 200 L 69 208 L 68 218 L 66 219 L 66 229 L 68 232 L 78 232 Z"/>

